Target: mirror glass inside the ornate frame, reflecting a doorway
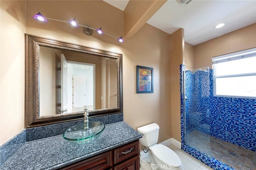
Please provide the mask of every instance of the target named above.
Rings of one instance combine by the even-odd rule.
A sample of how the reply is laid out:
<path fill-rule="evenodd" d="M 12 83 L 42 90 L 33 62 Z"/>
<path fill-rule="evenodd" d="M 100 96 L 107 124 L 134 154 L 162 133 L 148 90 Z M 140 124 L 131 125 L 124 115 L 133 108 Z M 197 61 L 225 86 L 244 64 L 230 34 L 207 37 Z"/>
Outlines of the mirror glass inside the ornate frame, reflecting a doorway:
<path fill-rule="evenodd" d="M 117 59 L 40 46 L 39 115 L 118 107 Z"/>

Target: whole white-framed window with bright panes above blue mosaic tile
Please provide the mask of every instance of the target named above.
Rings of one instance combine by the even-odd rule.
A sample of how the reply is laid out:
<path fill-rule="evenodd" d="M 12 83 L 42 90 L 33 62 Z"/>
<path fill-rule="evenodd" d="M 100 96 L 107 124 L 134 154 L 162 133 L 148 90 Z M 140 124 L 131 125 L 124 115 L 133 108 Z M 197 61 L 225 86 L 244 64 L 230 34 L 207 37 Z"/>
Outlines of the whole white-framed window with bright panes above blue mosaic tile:
<path fill-rule="evenodd" d="M 256 48 L 212 58 L 214 96 L 256 98 Z"/>

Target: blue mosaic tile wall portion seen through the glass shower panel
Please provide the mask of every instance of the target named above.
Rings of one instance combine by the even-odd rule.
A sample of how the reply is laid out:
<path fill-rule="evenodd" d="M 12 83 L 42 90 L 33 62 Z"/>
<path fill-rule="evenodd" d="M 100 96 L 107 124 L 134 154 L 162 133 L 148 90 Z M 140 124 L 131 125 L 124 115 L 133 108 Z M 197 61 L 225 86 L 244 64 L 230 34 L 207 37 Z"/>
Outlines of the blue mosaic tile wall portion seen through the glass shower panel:
<path fill-rule="evenodd" d="M 210 135 L 209 72 L 185 72 L 186 134 L 198 130 Z"/>

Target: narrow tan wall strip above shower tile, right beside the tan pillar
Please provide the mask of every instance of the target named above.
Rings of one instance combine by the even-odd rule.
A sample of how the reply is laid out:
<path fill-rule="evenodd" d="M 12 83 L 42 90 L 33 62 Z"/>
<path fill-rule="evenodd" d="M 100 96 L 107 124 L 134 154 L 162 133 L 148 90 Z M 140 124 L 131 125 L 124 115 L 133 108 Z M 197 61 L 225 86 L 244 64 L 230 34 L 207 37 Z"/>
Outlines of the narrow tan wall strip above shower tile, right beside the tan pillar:
<path fill-rule="evenodd" d="M 194 69 L 194 46 L 184 43 L 184 60 L 186 70 Z"/>

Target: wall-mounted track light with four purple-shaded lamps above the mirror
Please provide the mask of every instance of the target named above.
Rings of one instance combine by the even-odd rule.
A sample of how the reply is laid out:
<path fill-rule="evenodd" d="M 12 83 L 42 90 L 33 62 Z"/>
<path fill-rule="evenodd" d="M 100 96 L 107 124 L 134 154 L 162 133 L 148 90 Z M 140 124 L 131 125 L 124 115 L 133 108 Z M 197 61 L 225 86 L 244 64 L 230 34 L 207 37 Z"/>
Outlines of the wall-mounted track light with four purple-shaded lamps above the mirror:
<path fill-rule="evenodd" d="M 76 21 L 76 18 L 74 18 L 73 20 L 68 20 L 68 21 L 56 20 L 56 19 L 53 19 L 53 18 L 46 18 L 46 17 L 44 17 L 39 11 L 38 11 L 38 13 L 37 13 L 36 15 L 33 16 L 33 18 L 34 18 L 35 20 L 37 20 L 37 21 L 45 22 L 45 23 L 47 23 L 48 20 L 66 22 L 66 23 L 69 23 L 72 27 L 75 27 L 75 28 L 78 28 L 79 25 L 80 25 L 80 26 L 83 27 L 84 33 L 85 33 L 86 35 L 92 35 L 93 30 L 95 30 L 95 31 L 96 31 L 98 34 L 100 34 L 100 35 L 106 34 L 106 35 L 109 35 L 109 36 L 111 36 L 111 37 L 116 38 L 119 43 L 124 43 L 124 39 L 122 38 L 122 36 L 121 36 L 120 38 L 118 38 L 118 37 L 115 37 L 114 35 L 110 35 L 110 34 L 108 34 L 108 33 L 104 33 L 104 32 L 102 31 L 102 27 L 100 27 L 100 28 L 98 28 L 98 29 L 95 29 L 95 28 L 93 28 L 93 27 L 90 27 L 89 25 L 81 25 L 81 24 L 78 24 L 77 21 Z M 47 19 L 48 19 L 48 20 L 47 20 Z"/>

